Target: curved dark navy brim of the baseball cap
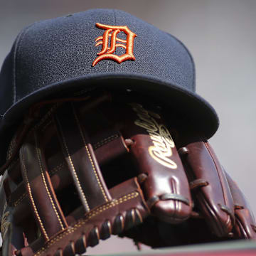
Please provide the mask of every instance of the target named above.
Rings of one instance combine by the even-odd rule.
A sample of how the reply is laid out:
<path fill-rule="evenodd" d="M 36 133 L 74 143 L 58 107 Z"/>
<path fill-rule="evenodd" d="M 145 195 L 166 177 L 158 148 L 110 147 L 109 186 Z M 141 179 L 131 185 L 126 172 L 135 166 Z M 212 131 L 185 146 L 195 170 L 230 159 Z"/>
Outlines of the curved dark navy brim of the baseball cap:
<path fill-rule="evenodd" d="M 7 146 L 15 130 L 15 127 L 12 126 L 21 119 L 22 114 L 34 103 L 40 102 L 51 95 L 56 95 L 56 93 L 65 90 L 86 90 L 91 87 L 104 87 L 118 90 L 130 89 L 154 97 L 166 107 L 170 108 L 170 117 L 171 113 L 177 110 L 179 113 L 186 114 L 187 117 L 190 117 L 189 119 L 193 120 L 194 128 L 201 134 L 204 134 L 207 139 L 212 137 L 218 129 L 218 115 L 215 110 L 206 100 L 194 92 L 177 85 L 172 85 L 170 82 L 157 79 L 150 75 L 102 73 L 55 82 L 23 97 L 20 101 L 16 102 L 15 105 L 10 107 L 1 119 L 1 142 L 6 143 Z M 1 154 L 1 156 L 2 155 L 3 154 Z"/>

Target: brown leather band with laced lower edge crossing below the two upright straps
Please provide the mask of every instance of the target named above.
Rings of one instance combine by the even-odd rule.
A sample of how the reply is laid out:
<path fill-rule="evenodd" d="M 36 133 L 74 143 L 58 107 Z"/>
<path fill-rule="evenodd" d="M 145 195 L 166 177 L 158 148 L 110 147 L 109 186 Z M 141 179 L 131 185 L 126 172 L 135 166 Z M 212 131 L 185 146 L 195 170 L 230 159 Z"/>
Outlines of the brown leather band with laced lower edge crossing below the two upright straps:
<path fill-rule="evenodd" d="M 127 183 L 120 184 L 119 188 L 112 189 L 113 200 L 102 204 L 92 210 L 90 213 L 85 214 L 84 217 L 73 222 L 73 225 L 62 233 L 56 234 L 55 238 L 48 242 L 43 249 L 38 250 L 38 248 L 26 247 L 21 250 L 22 255 L 54 255 L 59 248 L 63 248 L 64 255 L 68 255 L 68 250 L 70 249 L 70 240 L 74 242 L 74 246 L 78 247 L 76 251 L 81 248 L 79 246 L 85 247 L 85 245 L 80 245 L 80 239 L 84 234 L 86 237 L 86 246 L 92 246 L 99 242 L 101 235 L 106 233 L 105 221 L 110 221 L 110 233 L 122 232 L 127 226 L 134 225 L 133 218 L 129 218 L 129 210 L 137 210 L 137 216 L 135 220 L 140 223 L 146 215 L 149 214 L 149 210 L 146 206 L 144 198 L 142 196 L 142 191 L 138 187 L 136 179 L 127 181 Z M 139 213 L 138 213 L 139 212 Z M 121 220 L 120 216 L 122 216 Z M 138 224 L 137 223 L 137 224 Z M 98 236 L 93 236 L 92 233 L 97 227 Z M 107 228 L 108 229 L 108 228 Z M 106 236 L 103 235 L 103 238 Z M 86 249 L 86 248 L 82 248 Z M 67 252 L 65 252 L 65 250 Z M 73 254 L 73 252 L 71 251 Z"/>

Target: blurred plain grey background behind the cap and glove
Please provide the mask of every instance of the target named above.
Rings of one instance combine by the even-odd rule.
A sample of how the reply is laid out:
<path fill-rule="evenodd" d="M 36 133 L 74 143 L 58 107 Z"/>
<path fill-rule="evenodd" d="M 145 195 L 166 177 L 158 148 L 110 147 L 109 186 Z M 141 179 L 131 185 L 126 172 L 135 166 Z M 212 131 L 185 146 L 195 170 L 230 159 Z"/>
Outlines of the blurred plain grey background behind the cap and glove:
<path fill-rule="evenodd" d="M 0 65 L 24 26 L 93 8 L 127 11 L 188 47 L 196 63 L 197 92 L 220 117 L 210 143 L 256 213 L 256 1 L 0 0 Z M 112 238 L 87 253 L 135 249 L 129 240 Z"/>

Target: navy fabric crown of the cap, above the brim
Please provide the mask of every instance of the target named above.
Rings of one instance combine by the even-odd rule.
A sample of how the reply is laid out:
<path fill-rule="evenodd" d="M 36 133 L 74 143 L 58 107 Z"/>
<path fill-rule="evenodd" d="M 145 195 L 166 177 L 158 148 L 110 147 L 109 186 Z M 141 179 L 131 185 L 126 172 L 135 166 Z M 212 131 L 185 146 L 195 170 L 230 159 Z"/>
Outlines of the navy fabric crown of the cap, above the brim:
<path fill-rule="evenodd" d="M 136 35 L 134 60 L 106 58 L 92 65 L 103 47 L 95 46 L 95 40 L 107 31 L 96 23 L 127 26 Z M 127 34 L 120 31 L 117 38 L 127 41 Z M 114 48 L 114 55 L 124 53 L 123 47 Z M 96 9 L 39 21 L 21 31 L 1 70 L 0 114 L 55 82 L 106 73 L 146 75 L 195 90 L 193 60 L 180 41 L 124 11 Z"/>

